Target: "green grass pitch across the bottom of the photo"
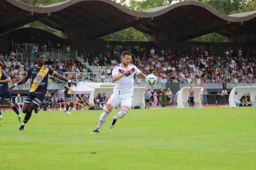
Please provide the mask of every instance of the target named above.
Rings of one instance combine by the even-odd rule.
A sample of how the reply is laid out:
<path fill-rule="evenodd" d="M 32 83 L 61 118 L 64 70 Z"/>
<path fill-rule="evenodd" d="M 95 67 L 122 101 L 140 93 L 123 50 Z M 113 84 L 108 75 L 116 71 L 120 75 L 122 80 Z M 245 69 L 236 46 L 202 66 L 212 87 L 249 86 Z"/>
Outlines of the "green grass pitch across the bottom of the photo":
<path fill-rule="evenodd" d="M 256 169 L 256 108 L 113 111 L 91 135 L 101 112 L 3 113 L 0 169 Z"/>

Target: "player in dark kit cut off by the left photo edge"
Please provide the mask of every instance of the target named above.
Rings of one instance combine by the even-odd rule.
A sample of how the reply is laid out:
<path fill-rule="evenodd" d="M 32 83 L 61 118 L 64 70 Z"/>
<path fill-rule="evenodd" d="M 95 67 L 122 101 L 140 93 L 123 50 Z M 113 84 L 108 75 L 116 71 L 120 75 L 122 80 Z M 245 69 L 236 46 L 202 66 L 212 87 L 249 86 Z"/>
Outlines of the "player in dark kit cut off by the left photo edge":
<path fill-rule="evenodd" d="M 8 82 L 11 82 L 9 75 L 2 70 L 3 63 L 0 62 L 0 97 L 4 98 L 5 102 L 13 111 L 18 115 L 18 120 L 21 122 L 21 114 L 18 111 L 18 108 L 12 103 L 12 95 L 9 91 Z M 0 120 L 3 120 L 4 117 L 0 110 Z"/>

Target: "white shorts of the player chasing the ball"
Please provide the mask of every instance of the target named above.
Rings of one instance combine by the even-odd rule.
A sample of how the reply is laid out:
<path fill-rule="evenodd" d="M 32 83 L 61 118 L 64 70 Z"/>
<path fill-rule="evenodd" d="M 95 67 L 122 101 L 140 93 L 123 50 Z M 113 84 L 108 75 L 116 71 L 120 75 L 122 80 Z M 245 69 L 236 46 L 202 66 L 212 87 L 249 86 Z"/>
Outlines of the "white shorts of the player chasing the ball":
<path fill-rule="evenodd" d="M 110 104 L 115 108 L 119 103 L 121 103 L 121 107 L 128 106 L 132 107 L 132 96 L 127 94 L 120 94 L 118 92 L 114 92 L 110 98 L 108 99 L 107 104 Z"/>

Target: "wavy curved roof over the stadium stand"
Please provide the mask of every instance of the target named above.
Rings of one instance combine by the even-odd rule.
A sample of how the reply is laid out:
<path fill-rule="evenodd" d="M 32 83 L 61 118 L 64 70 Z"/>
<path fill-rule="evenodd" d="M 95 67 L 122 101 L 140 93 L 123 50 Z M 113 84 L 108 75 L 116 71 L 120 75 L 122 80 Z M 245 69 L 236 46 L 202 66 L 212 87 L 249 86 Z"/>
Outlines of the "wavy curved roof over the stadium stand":
<path fill-rule="evenodd" d="M 211 32 L 227 37 L 255 33 L 256 12 L 226 15 L 194 1 L 133 11 L 110 0 L 72 0 L 42 7 L 3 0 L 0 20 L 0 34 L 38 20 L 63 32 L 82 31 L 82 37 L 98 38 L 134 27 L 150 35 L 186 40 Z"/>

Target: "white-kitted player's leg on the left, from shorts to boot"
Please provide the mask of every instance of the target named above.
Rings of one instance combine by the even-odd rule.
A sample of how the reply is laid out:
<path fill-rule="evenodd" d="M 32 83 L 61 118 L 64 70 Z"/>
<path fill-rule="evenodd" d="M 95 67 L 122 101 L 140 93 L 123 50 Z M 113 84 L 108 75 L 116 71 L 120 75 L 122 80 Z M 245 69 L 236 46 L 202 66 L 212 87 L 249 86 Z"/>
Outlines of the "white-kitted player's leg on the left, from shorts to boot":
<path fill-rule="evenodd" d="M 111 97 L 107 102 L 106 109 L 100 115 L 97 128 L 94 131 L 92 131 L 91 134 L 99 133 L 102 125 L 106 122 L 108 115 L 113 110 L 113 108 L 116 107 L 119 103 L 120 103 L 119 95 L 116 95 L 116 94 L 111 95 Z"/>

